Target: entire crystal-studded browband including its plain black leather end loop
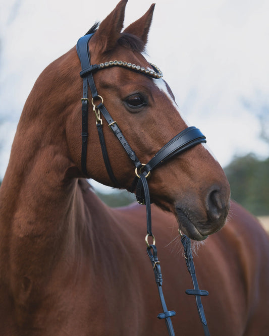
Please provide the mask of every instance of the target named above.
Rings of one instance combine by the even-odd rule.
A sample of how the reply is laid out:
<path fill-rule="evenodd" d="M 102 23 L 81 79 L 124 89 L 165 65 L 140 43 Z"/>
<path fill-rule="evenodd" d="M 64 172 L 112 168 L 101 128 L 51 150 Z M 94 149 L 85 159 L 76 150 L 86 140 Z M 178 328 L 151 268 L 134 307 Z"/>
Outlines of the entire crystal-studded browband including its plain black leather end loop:
<path fill-rule="evenodd" d="M 154 64 L 152 64 L 152 63 L 149 63 L 149 64 L 151 65 L 151 67 L 154 70 L 146 69 L 144 67 L 140 67 L 140 66 L 137 66 L 135 64 L 127 63 L 127 62 L 123 62 L 123 61 L 110 61 L 110 62 L 91 65 L 90 67 L 81 71 L 80 76 L 84 77 L 85 75 L 88 75 L 90 72 L 95 72 L 99 69 L 105 69 L 105 68 L 109 68 L 109 67 L 123 67 L 123 68 L 127 68 L 127 69 L 130 69 L 130 70 L 142 73 L 142 74 L 147 75 L 147 76 L 152 77 L 152 78 L 162 78 L 163 77 L 162 71 L 160 71 L 160 69 L 157 66 L 155 66 Z"/>

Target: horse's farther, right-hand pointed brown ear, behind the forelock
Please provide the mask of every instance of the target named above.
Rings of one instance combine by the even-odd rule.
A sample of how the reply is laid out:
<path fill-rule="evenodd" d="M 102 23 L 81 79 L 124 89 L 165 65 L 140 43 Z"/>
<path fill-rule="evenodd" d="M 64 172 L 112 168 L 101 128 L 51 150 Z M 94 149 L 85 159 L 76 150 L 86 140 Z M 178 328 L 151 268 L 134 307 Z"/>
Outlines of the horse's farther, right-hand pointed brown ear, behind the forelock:
<path fill-rule="evenodd" d="M 124 32 L 129 33 L 141 38 L 141 40 L 146 45 L 147 43 L 147 36 L 149 32 L 149 28 L 152 21 L 153 11 L 154 11 L 155 4 L 152 4 L 149 10 L 138 20 L 130 24 Z"/>

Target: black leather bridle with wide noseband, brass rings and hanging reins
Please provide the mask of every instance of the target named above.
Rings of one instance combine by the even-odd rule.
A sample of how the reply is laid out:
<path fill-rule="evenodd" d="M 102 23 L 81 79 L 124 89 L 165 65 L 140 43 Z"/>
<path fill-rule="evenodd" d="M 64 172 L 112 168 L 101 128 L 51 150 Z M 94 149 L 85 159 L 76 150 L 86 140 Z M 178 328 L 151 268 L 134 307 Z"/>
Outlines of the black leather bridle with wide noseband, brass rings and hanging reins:
<path fill-rule="evenodd" d="M 136 197 L 138 203 L 145 204 L 146 205 L 146 212 L 147 212 L 147 235 L 146 235 L 146 245 L 147 245 L 147 254 L 151 260 L 153 271 L 155 274 L 155 281 L 158 287 L 159 297 L 160 301 L 163 307 L 163 313 L 160 313 L 158 315 L 158 318 L 163 319 L 165 318 L 168 332 L 170 336 L 175 335 L 171 316 L 174 316 L 176 313 L 174 311 L 168 311 L 163 290 L 162 290 L 162 273 L 160 272 L 160 264 L 157 258 L 157 249 L 155 246 L 155 238 L 151 231 L 151 209 L 150 209 L 150 197 L 149 197 L 149 190 L 148 190 L 148 184 L 147 184 L 147 177 L 149 176 L 150 172 L 155 169 L 157 165 L 160 163 L 164 163 L 165 161 L 169 160 L 170 158 L 179 155 L 183 151 L 201 143 L 206 142 L 205 136 L 201 133 L 199 129 L 196 127 L 188 127 L 184 131 L 180 132 L 178 135 L 176 135 L 172 140 L 170 140 L 165 146 L 163 146 L 155 155 L 154 157 L 146 164 L 142 164 L 138 157 L 136 156 L 135 152 L 132 150 L 130 145 L 128 144 L 127 140 L 125 139 L 124 135 L 122 134 L 118 124 L 116 121 L 113 120 L 107 109 L 105 108 L 103 104 L 103 99 L 101 96 L 98 95 L 97 89 L 94 83 L 93 79 L 93 73 L 110 68 L 113 66 L 119 66 L 126 68 L 128 70 L 132 70 L 141 74 L 144 74 L 146 76 L 152 77 L 152 78 L 161 78 L 163 76 L 162 72 L 154 65 L 150 64 L 152 69 L 145 69 L 143 67 L 122 62 L 122 61 L 110 61 L 101 63 L 99 65 L 91 65 L 90 64 L 90 53 L 88 48 L 88 42 L 90 38 L 93 36 L 93 34 L 88 34 L 83 37 L 81 37 L 77 42 L 77 53 L 81 62 L 81 68 L 82 71 L 80 72 L 80 76 L 83 78 L 83 97 L 81 98 L 82 101 L 82 151 L 81 151 L 81 169 L 83 174 L 85 176 L 88 176 L 87 174 L 87 141 L 88 141 L 88 105 L 89 105 L 89 98 L 88 98 L 88 86 L 90 87 L 92 100 L 91 103 L 93 105 L 93 111 L 96 117 L 96 126 L 98 130 L 98 136 L 101 144 L 102 149 L 102 155 L 105 163 L 105 167 L 107 170 L 107 173 L 109 174 L 110 179 L 114 183 L 115 187 L 119 186 L 119 183 L 117 179 L 115 178 L 113 174 L 113 170 L 110 164 L 109 156 L 106 151 L 104 136 L 102 132 L 102 119 L 101 115 L 104 117 L 106 122 L 109 124 L 109 127 L 113 131 L 113 133 L 116 135 L 116 137 L 121 142 L 123 148 L 127 152 L 130 159 L 133 161 L 135 165 L 135 174 L 136 174 Z M 97 104 L 98 102 L 98 104 Z M 148 243 L 148 237 L 153 238 L 153 244 Z M 200 320 L 203 324 L 204 333 L 206 336 L 209 336 L 209 330 L 207 327 L 206 319 L 204 316 L 204 311 L 201 304 L 201 295 L 207 295 L 208 292 L 199 290 L 196 275 L 195 275 L 195 269 L 193 265 L 193 258 L 191 254 L 191 242 L 188 237 L 185 235 L 181 238 L 182 243 L 184 245 L 184 256 L 186 258 L 188 270 L 191 274 L 194 290 L 187 290 L 187 294 L 195 295 L 196 297 L 196 304 L 198 313 L 200 316 Z"/>

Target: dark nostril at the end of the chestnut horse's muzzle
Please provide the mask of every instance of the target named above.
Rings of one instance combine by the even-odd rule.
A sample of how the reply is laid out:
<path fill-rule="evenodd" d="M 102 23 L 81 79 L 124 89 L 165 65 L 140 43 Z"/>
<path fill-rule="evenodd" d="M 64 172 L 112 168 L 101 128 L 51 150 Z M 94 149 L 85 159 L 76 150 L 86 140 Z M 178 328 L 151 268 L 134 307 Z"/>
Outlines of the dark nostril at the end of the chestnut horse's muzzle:
<path fill-rule="evenodd" d="M 212 188 L 205 201 L 208 215 L 212 220 L 218 220 L 225 212 L 225 204 L 222 202 L 222 194 L 219 188 Z"/>

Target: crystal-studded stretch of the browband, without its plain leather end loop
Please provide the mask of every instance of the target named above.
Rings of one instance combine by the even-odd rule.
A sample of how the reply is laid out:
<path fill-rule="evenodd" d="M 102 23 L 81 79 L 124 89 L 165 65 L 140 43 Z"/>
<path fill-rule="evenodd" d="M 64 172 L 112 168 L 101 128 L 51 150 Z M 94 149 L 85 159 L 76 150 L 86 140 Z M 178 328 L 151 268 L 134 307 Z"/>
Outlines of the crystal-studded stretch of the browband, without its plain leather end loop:
<path fill-rule="evenodd" d="M 152 78 L 162 78 L 163 77 L 162 71 L 160 71 L 160 69 L 157 66 L 155 66 L 154 64 L 152 64 L 152 63 L 149 63 L 149 64 L 152 66 L 152 68 L 154 70 L 146 69 L 144 67 L 140 67 L 140 66 L 137 66 L 135 64 L 127 63 L 127 62 L 123 62 L 123 61 L 110 61 L 110 62 L 100 63 L 100 64 L 98 64 L 98 68 L 99 69 L 105 69 L 105 68 L 109 68 L 109 67 L 123 67 L 123 68 L 127 68 L 127 69 L 130 69 L 130 70 L 142 73 L 142 74 L 147 75 L 147 76 L 152 77 Z"/>

